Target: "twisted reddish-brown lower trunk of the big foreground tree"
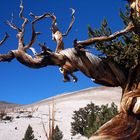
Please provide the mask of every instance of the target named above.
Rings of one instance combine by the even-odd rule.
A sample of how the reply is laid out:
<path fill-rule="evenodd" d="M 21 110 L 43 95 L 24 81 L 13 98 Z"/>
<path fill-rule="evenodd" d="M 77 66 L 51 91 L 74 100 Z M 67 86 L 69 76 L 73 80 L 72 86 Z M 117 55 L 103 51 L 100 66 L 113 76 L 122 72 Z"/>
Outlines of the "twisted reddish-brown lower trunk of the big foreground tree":
<path fill-rule="evenodd" d="M 104 124 L 90 140 L 140 139 L 140 67 L 137 66 L 126 81 L 120 113 Z"/>

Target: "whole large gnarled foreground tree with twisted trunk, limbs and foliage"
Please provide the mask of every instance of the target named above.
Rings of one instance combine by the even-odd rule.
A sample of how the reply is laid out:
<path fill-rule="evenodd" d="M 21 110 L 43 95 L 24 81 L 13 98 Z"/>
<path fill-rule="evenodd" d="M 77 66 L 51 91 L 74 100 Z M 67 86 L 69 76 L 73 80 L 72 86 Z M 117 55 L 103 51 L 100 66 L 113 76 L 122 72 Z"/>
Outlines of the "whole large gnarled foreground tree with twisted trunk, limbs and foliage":
<path fill-rule="evenodd" d="M 111 33 L 104 21 L 101 29 L 89 29 L 90 39 L 84 41 L 74 40 L 74 48 L 64 49 L 63 37 L 67 36 L 74 23 L 75 10 L 72 10 L 72 20 L 66 33 L 57 27 L 56 16 L 53 13 L 45 13 L 33 17 L 31 22 L 32 36 L 28 44 L 24 42 L 25 27 L 30 21 L 24 17 L 24 7 L 21 0 L 19 17 L 23 21 L 21 27 L 17 27 L 13 20 L 7 21 L 7 25 L 17 31 L 17 49 L 7 54 L 0 54 L 0 62 L 10 62 L 16 59 L 21 64 L 30 68 L 42 68 L 46 66 L 59 66 L 64 76 L 64 81 L 77 81 L 73 75 L 75 71 L 81 71 L 94 82 L 122 88 L 120 113 L 111 121 L 104 124 L 91 138 L 93 139 L 140 139 L 140 0 L 127 0 L 129 8 L 126 14 L 121 13 L 125 28 Z M 98 13 L 97 13 L 98 14 Z M 39 32 L 35 31 L 35 24 L 44 18 L 52 19 L 52 35 L 56 42 L 55 52 L 45 44 L 39 44 L 41 52 L 37 53 L 32 45 L 35 43 Z M 116 24 L 116 23 L 114 23 Z M 83 27 L 84 28 L 84 27 Z M 2 45 L 8 38 L 0 41 Z M 100 58 L 86 51 L 84 48 L 93 45 L 101 51 L 104 57 Z M 33 56 L 28 54 L 32 50 Z"/>

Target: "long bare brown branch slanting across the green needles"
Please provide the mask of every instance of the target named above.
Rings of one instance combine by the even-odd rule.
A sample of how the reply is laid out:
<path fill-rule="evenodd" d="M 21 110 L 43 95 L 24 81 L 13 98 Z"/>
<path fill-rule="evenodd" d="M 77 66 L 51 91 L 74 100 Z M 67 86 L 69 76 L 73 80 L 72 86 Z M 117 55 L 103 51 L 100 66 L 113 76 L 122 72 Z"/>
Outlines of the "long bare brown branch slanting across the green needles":
<path fill-rule="evenodd" d="M 129 23 L 128 26 L 121 30 L 121 31 L 117 31 L 115 32 L 114 34 L 110 35 L 110 36 L 101 36 L 101 37 L 94 37 L 94 38 L 90 38 L 88 40 L 84 40 L 84 41 L 78 41 L 77 42 L 77 46 L 89 46 L 89 45 L 92 45 L 96 42 L 102 42 L 102 41 L 110 41 L 110 40 L 113 40 L 123 34 L 126 34 L 130 31 L 132 31 L 134 29 L 134 25 L 132 23 Z"/>

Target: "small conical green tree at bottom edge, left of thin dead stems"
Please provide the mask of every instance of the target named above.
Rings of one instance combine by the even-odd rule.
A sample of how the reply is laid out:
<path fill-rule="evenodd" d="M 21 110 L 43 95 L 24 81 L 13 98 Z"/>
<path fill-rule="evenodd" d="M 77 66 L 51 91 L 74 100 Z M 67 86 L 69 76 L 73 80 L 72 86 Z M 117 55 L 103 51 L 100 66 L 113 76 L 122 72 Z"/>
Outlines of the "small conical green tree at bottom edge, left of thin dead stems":
<path fill-rule="evenodd" d="M 34 140 L 33 129 L 29 125 L 22 140 Z"/>

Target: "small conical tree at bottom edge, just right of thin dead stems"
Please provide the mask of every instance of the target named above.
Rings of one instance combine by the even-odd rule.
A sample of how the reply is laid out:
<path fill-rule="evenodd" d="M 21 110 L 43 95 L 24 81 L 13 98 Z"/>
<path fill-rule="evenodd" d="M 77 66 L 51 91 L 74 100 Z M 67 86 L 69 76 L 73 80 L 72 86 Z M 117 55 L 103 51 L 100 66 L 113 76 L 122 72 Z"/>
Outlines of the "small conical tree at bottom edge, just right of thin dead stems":
<path fill-rule="evenodd" d="M 56 127 L 54 129 L 54 134 L 52 136 L 52 140 L 62 140 L 62 138 L 63 138 L 63 133 L 59 129 L 58 125 L 56 125 Z"/>

